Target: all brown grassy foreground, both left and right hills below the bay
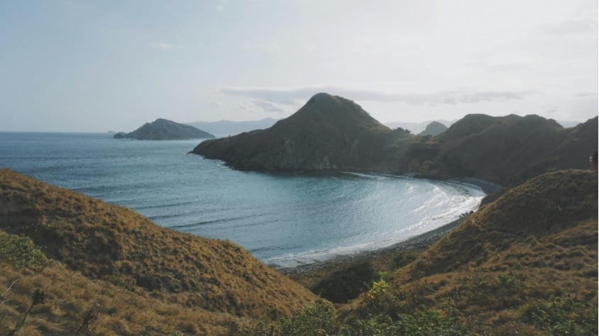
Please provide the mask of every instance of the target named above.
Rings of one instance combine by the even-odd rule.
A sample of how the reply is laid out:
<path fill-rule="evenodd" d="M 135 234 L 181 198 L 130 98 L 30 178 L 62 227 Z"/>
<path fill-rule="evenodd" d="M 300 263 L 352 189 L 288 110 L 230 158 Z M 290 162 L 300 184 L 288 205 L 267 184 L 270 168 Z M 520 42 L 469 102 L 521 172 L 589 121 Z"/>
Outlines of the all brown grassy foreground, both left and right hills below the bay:
<path fill-rule="evenodd" d="M 597 335 L 597 172 L 544 174 L 490 199 L 425 250 L 292 276 L 334 306 L 231 242 L 0 170 L 0 330 Z"/>

